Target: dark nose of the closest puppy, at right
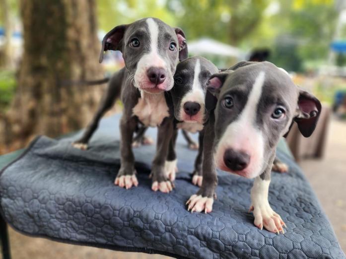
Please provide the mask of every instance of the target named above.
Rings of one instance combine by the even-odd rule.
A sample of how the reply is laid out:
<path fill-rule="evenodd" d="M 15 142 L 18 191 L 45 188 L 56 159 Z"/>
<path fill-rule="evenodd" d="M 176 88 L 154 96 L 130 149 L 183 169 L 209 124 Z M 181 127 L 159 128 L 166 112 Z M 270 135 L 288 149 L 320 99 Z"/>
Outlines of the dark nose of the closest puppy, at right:
<path fill-rule="evenodd" d="M 234 149 L 229 148 L 223 154 L 223 161 L 225 165 L 232 171 L 241 171 L 249 165 L 250 155 L 245 152 L 235 151 Z"/>

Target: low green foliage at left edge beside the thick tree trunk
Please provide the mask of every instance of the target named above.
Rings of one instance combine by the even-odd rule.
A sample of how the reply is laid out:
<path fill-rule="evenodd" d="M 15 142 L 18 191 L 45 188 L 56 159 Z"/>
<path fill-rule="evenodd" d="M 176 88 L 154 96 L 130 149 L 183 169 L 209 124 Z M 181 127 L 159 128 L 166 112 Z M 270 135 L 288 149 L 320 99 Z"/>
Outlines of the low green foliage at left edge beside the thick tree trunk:
<path fill-rule="evenodd" d="M 5 110 L 10 104 L 16 89 L 14 72 L 0 71 L 0 111 Z"/>

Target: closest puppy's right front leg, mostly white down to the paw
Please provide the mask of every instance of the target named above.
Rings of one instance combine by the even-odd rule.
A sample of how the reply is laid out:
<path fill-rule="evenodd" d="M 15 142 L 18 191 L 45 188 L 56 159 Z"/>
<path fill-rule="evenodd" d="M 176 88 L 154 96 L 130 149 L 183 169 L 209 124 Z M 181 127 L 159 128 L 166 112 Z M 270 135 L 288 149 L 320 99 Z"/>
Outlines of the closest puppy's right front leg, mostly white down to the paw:
<path fill-rule="evenodd" d="M 275 154 L 270 160 L 270 165 L 273 163 Z M 279 233 L 282 231 L 282 226 L 286 226 L 281 217 L 271 208 L 268 201 L 269 184 L 271 182 L 271 166 L 265 172 L 255 178 L 254 185 L 251 189 L 251 206 L 250 211 L 253 211 L 255 221 L 254 224 L 259 229 L 267 229 L 270 232 Z"/>

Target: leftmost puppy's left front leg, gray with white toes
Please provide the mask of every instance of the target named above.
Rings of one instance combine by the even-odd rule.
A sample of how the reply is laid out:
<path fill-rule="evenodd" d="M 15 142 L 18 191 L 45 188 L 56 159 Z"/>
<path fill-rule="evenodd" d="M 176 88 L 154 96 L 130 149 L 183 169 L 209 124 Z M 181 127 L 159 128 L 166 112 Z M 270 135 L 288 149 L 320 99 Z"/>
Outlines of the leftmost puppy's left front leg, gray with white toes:
<path fill-rule="evenodd" d="M 123 115 L 120 121 L 121 141 L 121 167 L 114 184 L 130 189 L 138 186 L 135 170 L 135 156 L 132 152 L 132 139 L 138 120 L 134 116 Z"/>

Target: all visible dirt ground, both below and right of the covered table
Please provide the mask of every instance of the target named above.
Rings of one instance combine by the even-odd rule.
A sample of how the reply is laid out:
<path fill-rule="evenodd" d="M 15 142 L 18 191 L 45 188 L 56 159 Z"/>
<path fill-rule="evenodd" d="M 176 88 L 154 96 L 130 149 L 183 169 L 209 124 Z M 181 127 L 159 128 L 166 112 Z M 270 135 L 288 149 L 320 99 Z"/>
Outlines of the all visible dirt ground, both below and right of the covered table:
<path fill-rule="evenodd" d="M 322 160 L 300 163 L 346 252 L 346 122 L 331 121 L 327 150 Z M 10 229 L 13 259 L 164 259 L 160 255 L 114 252 L 29 238 Z M 1 256 L 0 256 L 1 258 Z"/>

